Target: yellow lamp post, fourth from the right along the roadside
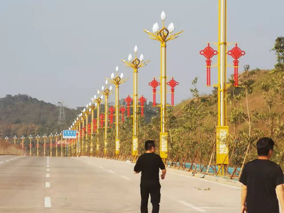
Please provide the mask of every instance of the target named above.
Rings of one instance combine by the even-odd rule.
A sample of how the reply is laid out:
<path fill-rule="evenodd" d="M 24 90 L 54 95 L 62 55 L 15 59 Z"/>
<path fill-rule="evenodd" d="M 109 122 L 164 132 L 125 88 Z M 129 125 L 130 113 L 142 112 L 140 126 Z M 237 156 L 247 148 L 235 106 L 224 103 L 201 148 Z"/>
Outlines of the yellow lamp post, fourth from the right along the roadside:
<path fill-rule="evenodd" d="M 120 138 L 119 138 L 119 85 L 127 81 L 123 79 L 123 73 L 118 75 L 118 67 L 115 68 L 116 76 L 114 73 L 111 74 L 111 79 L 107 79 L 115 85 L 115 154 L 119 154 Z"/>

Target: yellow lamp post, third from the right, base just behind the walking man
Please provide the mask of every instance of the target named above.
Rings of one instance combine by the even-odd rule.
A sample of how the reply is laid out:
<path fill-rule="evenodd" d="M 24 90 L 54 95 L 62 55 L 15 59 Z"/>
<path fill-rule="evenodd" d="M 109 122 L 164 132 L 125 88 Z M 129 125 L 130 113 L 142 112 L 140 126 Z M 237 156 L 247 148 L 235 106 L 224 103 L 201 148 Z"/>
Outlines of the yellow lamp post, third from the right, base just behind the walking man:
<path fill-rule="evenodd" d="M 137 46 L 134 47 L 135 58 L 132 60 L 131 54 L 128 56 L 128 62 L 122 60 L 126 67 L 133 69 L 133 138 L 132 138 L 132 155 L 138 156 L 138 69 L 144 67 L 148 61 L 143 62 L 144 56 L 140 55 L 140 59 L 137 58 Z"/>

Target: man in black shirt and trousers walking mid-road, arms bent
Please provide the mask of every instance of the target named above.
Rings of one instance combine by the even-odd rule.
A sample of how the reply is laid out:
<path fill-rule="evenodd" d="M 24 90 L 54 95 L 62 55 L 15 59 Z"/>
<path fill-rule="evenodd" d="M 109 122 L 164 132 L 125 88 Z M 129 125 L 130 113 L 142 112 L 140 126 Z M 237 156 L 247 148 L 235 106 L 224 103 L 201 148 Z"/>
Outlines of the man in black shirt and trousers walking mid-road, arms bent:
<path fill-rule="evenodd" d="M 152 213 L 158 213 L 160 209 L 160 180 L 159 169 L 162 170 L 161 179 L 165 179 L 166 167 L 162 158 L 155 154 L 155 142 L 148 140 L 145 142 L 146 153 L 141 155 L 136 165 L 134 166 L 134 173 L 142 172 L 140 182 L 141 194 L 141 213 L 148 213 L 148 199 L 151 195 L 151 203 L 153 206 Z"/>

